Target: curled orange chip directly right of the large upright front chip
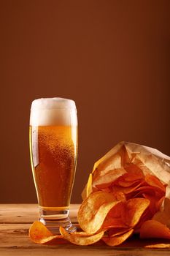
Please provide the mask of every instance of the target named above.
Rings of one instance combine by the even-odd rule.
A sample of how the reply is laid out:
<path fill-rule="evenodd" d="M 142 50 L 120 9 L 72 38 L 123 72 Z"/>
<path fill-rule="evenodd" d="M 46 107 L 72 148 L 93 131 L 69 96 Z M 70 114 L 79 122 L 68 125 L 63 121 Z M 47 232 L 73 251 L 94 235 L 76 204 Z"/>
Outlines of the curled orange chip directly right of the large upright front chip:
<path fill-rule="evenodd" d="M 122 219 L 125 225 L 134 227 L 139 222 L 139 219 L 149 205 L 150 200 L 144 198 L 129 199 L 122 211 Z"/>

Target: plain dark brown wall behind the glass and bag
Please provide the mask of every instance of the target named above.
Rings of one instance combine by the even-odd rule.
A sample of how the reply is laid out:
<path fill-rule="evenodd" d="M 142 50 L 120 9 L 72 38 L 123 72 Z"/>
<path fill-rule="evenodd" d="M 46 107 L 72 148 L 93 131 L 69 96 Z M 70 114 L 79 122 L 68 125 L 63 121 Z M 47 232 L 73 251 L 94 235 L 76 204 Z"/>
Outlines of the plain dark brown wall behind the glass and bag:
<path fill-rule="evenodd" d="M 93 163 L 121 140 L 170 155 L 170 1 L 0 1 L 0 203 L 36 202 L 31 101 L 77 103 L 72 203 Z"/>

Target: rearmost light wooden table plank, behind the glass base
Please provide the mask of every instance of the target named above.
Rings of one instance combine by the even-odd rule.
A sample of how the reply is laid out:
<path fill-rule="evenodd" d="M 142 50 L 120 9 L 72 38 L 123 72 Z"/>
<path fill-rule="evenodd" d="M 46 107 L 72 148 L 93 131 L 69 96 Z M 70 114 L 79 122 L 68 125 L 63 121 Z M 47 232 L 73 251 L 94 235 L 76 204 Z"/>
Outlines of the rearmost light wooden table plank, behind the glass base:
<path fill-rule="evenodd" d="M 70 217 L 73 223 L 77 222 L 77 211 L 80 205 L 70 206 Z M 37 204 L 1 204 L 0 223 L 32 223 L 39 219 Z"/>

